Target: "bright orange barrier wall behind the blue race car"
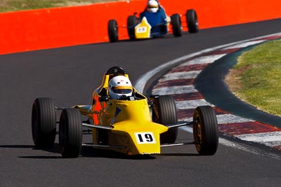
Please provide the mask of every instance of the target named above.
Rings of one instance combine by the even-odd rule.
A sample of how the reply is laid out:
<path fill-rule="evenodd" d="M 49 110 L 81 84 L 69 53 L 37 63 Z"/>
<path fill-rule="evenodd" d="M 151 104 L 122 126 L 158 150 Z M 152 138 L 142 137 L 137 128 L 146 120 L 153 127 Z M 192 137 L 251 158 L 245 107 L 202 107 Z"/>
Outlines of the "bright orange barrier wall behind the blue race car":
<path fill-rule="evenodd" d="M 119 26 L 125 26 L 128 15 L 143 11 L 146 1 L 0 13 L 0 55 L 107 42 L 107 21 L 116 19 Z M 200 29 L 281 18 L 280 0 L 160 0 L 160 3 L 168 15 L 185 14 L 187 9 L 194 8 Z M 127 39 L 126 29 L 119 28 L 119 35 L 120 39 Z"/>

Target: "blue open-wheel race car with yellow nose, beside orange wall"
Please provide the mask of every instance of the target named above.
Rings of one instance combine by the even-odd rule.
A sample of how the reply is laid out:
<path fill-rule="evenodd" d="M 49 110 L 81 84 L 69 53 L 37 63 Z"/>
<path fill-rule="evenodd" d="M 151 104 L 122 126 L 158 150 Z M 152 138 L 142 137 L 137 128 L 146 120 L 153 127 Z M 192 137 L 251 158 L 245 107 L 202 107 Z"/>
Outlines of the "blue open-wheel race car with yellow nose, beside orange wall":
<path fill-rule="evenodd" d="M 126 28 L 129 39 L 150 39 L 169 34 L 169 29 L 172 30 L 174 36 L 182 36 L 183 27 L 181 17 L 185 16 L 188 32 L 198 32 L 197 13 L 194 9 L 186 11 L 184 15 L 175 13 L 171 16 L 164 13 L 161 6 L 156 12 L 144 11 L 129 15 L 126 26 L 119 26 L 117 20 L 109 20 L 107 22 L 107 32 L 110 42 L 119 40 L 119 28 Z"/>

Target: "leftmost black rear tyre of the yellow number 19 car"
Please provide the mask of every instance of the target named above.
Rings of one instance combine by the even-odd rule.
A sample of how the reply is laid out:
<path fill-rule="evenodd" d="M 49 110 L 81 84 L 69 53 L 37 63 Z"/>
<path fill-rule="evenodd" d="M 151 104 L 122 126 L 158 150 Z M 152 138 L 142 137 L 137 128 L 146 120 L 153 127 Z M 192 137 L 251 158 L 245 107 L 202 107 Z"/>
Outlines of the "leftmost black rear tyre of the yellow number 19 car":
<path fill-rule="evenodd" d="M 55 133 L 55 104 L 51 98 L 35 99 L 32 105 L 32 139 L 35 146 L 53 146 Z"/>

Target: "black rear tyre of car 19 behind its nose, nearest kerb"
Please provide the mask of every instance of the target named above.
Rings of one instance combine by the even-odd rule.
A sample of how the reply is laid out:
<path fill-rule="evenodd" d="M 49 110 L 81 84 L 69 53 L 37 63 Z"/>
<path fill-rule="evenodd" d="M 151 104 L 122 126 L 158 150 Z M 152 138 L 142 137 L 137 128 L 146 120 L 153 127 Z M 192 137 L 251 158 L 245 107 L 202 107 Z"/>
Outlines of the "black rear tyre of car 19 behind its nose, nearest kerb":
<path fill-rule="evenodd" d="M 176 104 L 171 95 L 160 95 L 154 99 L 152 121 L 162 125 L 178 123 Z M 160 134 L 161 144 L 173 144 L 178 136 L 178 128 L 174 127 Z"/>

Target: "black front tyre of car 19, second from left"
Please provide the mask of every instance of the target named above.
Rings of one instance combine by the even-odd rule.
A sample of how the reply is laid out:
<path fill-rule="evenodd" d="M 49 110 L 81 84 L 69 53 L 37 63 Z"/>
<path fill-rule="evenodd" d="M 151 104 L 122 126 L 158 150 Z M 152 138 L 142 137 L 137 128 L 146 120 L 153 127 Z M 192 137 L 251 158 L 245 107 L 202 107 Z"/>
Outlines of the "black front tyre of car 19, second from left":
<path fill-rule="evenodd" d="M 59 126 L 60 150 L 63 158 L 77 158 L 82 146 L 82 121 L 77 109 L 63 109 Z"/>

